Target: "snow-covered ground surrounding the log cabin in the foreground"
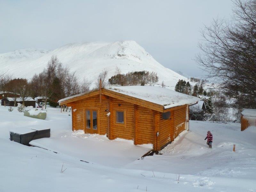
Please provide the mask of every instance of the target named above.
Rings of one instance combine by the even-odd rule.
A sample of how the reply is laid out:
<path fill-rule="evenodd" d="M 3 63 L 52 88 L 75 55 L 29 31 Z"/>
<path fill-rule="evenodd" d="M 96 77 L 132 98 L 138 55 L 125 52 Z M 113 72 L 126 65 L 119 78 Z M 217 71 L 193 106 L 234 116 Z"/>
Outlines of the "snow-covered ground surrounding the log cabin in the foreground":
<path fill-rule="evenodd" d="M 40 120 L 0 106 L 0 192 L 256 191 L 255 127 L 241 132 L 237 123 L 190 121 L 190 131 L 182 132 L 163 155 L 138 160 L 151 144 L 72 132 L 69 115 L 49 108 L 46 120 Z M 9 140 L 10 129 L 29 125 L 51 128 L 50 138 L 31 142 L 42 148 Z M 212 149 L 204 140 L 208 130 Z M 61 173 L 62 165 L 66 170 Z"/>

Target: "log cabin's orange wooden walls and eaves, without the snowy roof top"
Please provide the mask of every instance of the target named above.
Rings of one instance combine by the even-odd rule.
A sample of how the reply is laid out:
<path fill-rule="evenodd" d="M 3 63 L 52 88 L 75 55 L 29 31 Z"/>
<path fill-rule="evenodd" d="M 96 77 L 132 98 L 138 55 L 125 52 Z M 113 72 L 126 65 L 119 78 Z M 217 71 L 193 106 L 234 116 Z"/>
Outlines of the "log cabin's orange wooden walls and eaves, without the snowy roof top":
<path fill-rule="evenodd" d="M 159 151 L 172 142 L 188 125 L 188 104 L 169 109 L 133 99 L 127 95 L 95 90 L 63 101 L 72 107 L 72 130 L 133 140 L 135 145 L 153 144 Z M 165 119 L 164 113 L 170 117 Z"/>

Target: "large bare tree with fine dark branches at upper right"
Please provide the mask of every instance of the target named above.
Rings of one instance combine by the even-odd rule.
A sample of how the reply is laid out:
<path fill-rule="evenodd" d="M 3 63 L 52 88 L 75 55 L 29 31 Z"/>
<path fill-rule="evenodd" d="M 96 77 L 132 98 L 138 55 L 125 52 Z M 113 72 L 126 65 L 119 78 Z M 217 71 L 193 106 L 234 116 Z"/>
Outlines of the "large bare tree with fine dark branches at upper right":
<path fill-rule="evenodd" d="M 196 60 L 221 81 L 238 108 L 256 108 L 256 1 L 234 0 L 232 20 L 215 19 L 202 30 Z"/>

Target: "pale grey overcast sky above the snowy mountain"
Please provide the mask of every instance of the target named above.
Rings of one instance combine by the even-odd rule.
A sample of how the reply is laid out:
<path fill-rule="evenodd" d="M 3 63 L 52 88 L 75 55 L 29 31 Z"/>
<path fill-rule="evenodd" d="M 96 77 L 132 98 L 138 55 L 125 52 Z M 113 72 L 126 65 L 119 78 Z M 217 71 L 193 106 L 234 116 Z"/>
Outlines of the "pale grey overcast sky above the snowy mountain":
<path fill-rule="evenodd" d="M 193 60 L 200 28 L 229 18 L 232 7 L 230 0 L 0 0 L 0 53 L 134 40 L 165 67 L 201 76 Z"/>

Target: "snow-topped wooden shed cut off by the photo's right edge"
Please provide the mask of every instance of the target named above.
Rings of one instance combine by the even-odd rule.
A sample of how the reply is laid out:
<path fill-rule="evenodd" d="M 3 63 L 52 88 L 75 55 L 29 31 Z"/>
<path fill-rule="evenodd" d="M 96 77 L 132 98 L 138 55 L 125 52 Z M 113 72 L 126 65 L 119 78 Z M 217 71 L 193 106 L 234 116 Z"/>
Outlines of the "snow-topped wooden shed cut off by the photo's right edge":
<path fill-rule="evenodd" d="M 241 131 L 251 126 L 256 127 L 256 109 L 244 109 L 241 113 Z"/>

